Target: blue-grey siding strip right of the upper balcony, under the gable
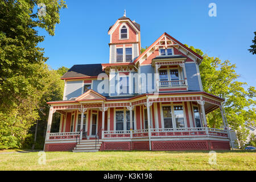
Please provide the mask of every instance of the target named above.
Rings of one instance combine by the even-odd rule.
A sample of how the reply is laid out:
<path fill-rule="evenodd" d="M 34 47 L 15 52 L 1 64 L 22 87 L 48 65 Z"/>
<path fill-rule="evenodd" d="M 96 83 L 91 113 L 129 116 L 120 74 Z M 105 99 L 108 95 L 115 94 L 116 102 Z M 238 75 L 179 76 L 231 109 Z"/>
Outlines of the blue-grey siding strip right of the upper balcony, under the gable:
<path fill-rule="evenodd" d="M 186 63 L 185 64 L 186 73 L 187 73 L 187 80 L 188 80 L 188 90 L 195 90 L 199 91 L 199 81 L 196 71 L 196 64 L 195 63 Z"/>

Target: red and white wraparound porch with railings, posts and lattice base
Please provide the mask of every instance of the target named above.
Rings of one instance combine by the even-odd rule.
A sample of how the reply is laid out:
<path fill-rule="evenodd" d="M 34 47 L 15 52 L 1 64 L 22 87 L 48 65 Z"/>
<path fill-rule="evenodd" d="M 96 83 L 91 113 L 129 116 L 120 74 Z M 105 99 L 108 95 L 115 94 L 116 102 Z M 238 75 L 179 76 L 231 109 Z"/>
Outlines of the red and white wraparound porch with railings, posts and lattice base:
<path fill-rule="evenodd" d="M 223 130 L 207 126 L 205 113 L 218 107 L 220 102 L 209 96 L 170 95 L 52 106 L 45 150 L 73 150 L 81 141 L 97 139 L 102 141 L 100 150 L 229 150 L 224 115 Z M 61 113 L 59 133 L 49 132 L 54 110 Z"/>

